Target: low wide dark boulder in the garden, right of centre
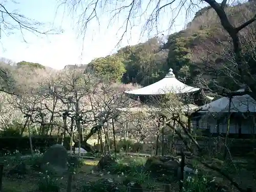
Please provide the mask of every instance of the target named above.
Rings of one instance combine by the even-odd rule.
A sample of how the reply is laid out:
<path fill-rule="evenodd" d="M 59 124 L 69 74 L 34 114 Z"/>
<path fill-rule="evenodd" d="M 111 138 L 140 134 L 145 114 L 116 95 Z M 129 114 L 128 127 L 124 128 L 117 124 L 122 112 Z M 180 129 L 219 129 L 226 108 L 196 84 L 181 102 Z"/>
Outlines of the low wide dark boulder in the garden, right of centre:
<path fill-rule="evenodd" d="M 155 177 L 178 176 L 179 162 L 172 157 L 152 156 L 145 163 L 145 170 Z"/>

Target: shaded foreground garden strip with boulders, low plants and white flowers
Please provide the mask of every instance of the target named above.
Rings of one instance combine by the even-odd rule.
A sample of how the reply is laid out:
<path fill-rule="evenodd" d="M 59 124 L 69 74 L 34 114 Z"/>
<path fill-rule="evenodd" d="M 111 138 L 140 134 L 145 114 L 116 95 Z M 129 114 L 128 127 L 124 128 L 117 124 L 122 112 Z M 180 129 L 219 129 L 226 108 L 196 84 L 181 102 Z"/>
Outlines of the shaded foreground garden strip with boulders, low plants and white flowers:
<path fill-rule="evenodd" d="M 4 167 L 2 191 L 239 191 L 220 172 L 235 178 L 239 187 L 248 187 L 249 183 L 254 187 L 254 180 L 248 180 L 253 173 L 253 161 L 212 158 L 202 162 L 207 158 L 185 154 L 182 162 L 182 154 L 129 154 L 87 153 L 78 158 L 70 156 L 61 144 L 50 146 L 45 153 L 35 150 L 33 155 L 6 153 L 0 159 Z"/>

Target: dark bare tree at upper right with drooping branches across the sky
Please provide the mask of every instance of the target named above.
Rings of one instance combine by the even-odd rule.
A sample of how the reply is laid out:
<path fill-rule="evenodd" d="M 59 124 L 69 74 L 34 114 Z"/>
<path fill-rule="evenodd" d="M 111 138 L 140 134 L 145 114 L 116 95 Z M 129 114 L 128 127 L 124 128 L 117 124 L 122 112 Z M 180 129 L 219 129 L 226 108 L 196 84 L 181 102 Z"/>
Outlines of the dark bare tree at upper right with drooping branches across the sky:
<path fill-rule="evenodd" d="M 223 0 L 221 3 L 217 3 L 215 0 L 204 0 L 204 3 L 207 3 L 211 8 L 213 8 L 220 19 L 221 26 L 228 33 L 232 42 L 232 50 L 234 53 L 234 67 L 238 69 L 239 76 L 244 84 L 248 86 L 248 88 L 256 93 L 256 87 L 254 86 L 253 77 L 248 71 L 248 66 L 244 61 L 242 50 L 243 46 L 241 44 L 240 33 L 241 31 L 251 25 L 256 20 L 256 15 L 251 15 L 245 22 L 236 25 L 233 22 L 236 19 L 228 16 L 226 11 L 230 11 L 227 9 L 227 0 Z M 136 19 L 144 16 L 146 17 L 146 22 L 142 28 L 142 31 L 152 32 L 154 29 L 158 29 L 159 22 L 161 22 L 160 17 L 163 15 L 169 16 L 169 13 L 172 14 L 172 19 L 168 25 L 168 29 L 172 28 L 175 23 L 175 19 L 182 14 L 185 10 L 185 15 L 193 13 L 195 9 L 197 9 L 201 1 L 150 1 L 142 3 L 142 1 L 62 1 L 62 4 L 69 6 L 71 10 L 77 11 L 78 8 L 82 8 L 82 13 L 79 16 L 79 20 L 77 24 L 79 25 L 80 33 L 84 34 L 89 27 L 91 22 L 98 21 L 100 22 L 100 16 L 109 14 L 111 20 L 113 22 L 115 18 L 123 18 L 123 26 L 122 26 L 122 35 L 121 39 L 125 35 L 125 33 L 129 32 L 132 27 L 134 27 L 134 23 Z M 79 7 L 80 6 L 80 7 Z M 101 14 L 103 13 L 103 14 Z M 183 12 L 184 13 L 184 12 Z M 253 96 L 256 98 L 256 96 Z"/>

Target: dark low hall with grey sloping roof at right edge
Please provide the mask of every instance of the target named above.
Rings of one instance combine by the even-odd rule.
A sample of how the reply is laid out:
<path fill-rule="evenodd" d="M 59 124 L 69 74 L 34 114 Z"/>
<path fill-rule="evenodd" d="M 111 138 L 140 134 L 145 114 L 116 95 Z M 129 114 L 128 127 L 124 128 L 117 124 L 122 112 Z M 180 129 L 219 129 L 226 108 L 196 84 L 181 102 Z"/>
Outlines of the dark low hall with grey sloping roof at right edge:
<path fill-rule="evenodd" d="M 223 96 L 191 114 L 193 127 L 213 136 L 252 138 L 256 134 L 256 101 L 245 89 Z"/>

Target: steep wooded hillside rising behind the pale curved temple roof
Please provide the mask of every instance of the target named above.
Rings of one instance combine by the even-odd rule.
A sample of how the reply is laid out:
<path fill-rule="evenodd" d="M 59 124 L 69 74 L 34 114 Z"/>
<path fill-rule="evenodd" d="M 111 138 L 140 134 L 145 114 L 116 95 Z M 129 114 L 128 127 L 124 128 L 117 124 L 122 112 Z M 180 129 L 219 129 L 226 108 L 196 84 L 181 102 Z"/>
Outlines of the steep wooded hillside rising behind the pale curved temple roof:
<path fill-rule="evenodd" d="M 255 2 L 226 7 L 234 26 L 255 14 Z M 255 63 L 255 24 L 241 31 L 243 56 Z M 139 83 L 147 86 L 163 78 L 173 68 L 178 78 L 198 87 L 211 90 L 239 89 L 239 77 L 233 66 L 229 36 L 222 28 L 216 12 L 205 7 L 195 14 L 186 29 L 168 36 L 158 37 L 121 48 L 116 54 L 97 58 L 89 63 L 95 73 L 123 83 Z M 253 75 L 253 74 L 252 74 Z"/>

